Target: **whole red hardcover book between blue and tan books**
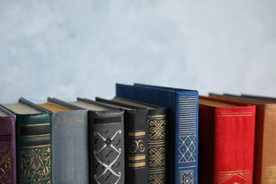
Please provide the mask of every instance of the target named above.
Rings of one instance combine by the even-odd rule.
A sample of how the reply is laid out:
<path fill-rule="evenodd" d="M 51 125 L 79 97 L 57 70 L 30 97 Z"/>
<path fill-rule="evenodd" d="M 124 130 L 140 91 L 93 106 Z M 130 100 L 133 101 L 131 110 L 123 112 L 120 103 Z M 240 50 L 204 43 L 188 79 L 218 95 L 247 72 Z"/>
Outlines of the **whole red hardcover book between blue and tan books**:
<path fill-rule="evenodd" d="M 255 105 L 200 96 L 199 183 L 253 183 Z"/>

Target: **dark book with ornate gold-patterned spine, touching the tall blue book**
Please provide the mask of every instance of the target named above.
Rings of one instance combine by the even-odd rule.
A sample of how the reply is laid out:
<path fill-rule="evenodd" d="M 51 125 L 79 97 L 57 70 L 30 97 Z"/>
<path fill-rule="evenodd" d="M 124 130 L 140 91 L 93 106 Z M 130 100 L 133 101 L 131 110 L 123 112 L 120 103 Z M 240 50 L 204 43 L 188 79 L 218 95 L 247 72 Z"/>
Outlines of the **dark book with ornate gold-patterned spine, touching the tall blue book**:
<path fill-rule="evenodd" d="M 149 183 L 166 183 L 166 108 L 115 97 L 118 103 L 146 108 L 148 110 L 148 172 Z M 120 105 L 120 104 L 119 104 Z"/>

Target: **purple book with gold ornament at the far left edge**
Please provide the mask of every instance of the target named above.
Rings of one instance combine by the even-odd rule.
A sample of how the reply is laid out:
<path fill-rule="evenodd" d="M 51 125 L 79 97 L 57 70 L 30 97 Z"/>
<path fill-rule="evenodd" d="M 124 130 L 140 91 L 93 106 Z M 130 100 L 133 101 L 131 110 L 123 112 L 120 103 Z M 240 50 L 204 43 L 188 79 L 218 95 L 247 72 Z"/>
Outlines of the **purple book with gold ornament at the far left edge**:
<path fill-rule="evenodd" d="M 16 184 L 16 116 L 1 106 L 0 183 Z"/>

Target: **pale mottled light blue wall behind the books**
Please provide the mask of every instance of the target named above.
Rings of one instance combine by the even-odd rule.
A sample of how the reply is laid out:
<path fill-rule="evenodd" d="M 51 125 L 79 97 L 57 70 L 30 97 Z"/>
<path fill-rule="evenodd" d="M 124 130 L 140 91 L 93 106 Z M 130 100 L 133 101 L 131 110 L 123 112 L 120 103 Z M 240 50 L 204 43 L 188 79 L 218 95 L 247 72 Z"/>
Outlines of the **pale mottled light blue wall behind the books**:
<path fill-rule="evenodd" d="M 276 1 L 0 1 L 0 103 L 115 83 L 276 96 Z"/>

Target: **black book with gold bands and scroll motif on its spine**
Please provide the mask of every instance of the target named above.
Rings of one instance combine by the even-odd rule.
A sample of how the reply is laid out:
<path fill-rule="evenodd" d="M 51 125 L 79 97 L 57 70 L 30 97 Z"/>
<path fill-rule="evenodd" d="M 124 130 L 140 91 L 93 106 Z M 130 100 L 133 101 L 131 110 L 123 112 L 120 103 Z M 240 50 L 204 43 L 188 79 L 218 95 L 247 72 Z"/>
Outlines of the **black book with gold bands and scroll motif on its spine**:
<path fill-rule="evenodd" d="M 148 183 L 148 110 L 103 98 L 96 100 L 125 110 L 125 183 Z"/>

